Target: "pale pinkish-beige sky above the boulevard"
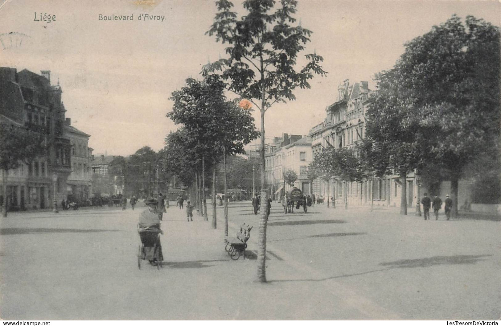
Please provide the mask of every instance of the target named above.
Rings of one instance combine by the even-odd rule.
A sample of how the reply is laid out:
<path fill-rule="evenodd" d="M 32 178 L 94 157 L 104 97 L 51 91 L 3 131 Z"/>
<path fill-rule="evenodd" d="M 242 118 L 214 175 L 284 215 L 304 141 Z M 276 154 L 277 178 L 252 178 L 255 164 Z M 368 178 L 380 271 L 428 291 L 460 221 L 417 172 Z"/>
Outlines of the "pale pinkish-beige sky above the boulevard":
<path fill-rule="evenodd" d="M 241 8 L 241 1 L 233 3 Z M 160 20 L 138 20 L 141 14 Z M 0 66 L 50 70 L 51 83 L 59 81 L 63 90 L 66 117 L 91 135 L 94 154 L 130 155 L 146 145 L 159 150 L 179 127 L 165 116 L 171 92 L 225 56 L 224 46 L 205 35 L 215 14 L 208 0 L 0 0 Z M 313 31 L 303 54 L 324 57 L 329 74 L 296 90 L 296 101 L 269 109 L 266 137 L 308 134 L 337 100 L 339 83 L 369 81 L 374 89 L 374 74 L 391 69 L 406 42 L 453 14 L 501 25 L 501 4 L 490 0 L 300 0 L 295 17 Z M 56 19 L 35 21 L 44 15 Z M 99 15 L 133 20 L 100 21 Z M 254 116 L 259 121 L 259 112 Z"/>

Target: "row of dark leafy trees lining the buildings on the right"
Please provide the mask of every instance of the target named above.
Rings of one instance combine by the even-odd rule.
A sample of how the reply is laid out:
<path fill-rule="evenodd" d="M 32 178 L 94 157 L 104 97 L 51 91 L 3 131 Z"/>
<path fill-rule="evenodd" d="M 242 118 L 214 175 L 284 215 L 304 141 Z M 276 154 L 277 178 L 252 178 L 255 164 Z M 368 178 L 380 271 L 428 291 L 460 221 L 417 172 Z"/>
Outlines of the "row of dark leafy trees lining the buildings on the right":
<path fill-rule="evenodd" d="M 431 188 L 450 180 L 454 217 L 458 181 L 465 175 L 490 176 L 490 196 L 498 199 L 499 40 L 499 28 L 471 16 L 463 24 L 453 16 L 408 42 L 393 69 L 376 74 L 366 138 L 353 149 L 328 148 L 317 155 L 312 178 L 362 182 L 397 174 L 402 214 L 412 171 Z"/>

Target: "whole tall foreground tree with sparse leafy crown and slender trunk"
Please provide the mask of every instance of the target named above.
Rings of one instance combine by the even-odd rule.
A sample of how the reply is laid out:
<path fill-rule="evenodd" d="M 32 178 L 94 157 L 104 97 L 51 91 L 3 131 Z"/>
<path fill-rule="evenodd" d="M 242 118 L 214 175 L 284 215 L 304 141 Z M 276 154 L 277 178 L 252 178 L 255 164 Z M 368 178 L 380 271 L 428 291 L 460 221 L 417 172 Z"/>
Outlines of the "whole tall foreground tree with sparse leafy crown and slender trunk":
<path fill-rule="evenodd" d="M 308 61 L 299 71 L 295 66 L 298 54 L 310 41 L 311 31 L 291 26 L 296 19 L 297 1 L 283 0 L 275 9 L 273 0 L 246 0 L 243 9 L 246 15 L 237 19 L 231 11 L 233 4 L 228 0 L 216 2 L 218 13 L 214 24 L 206 33 L 215 36 L 216 42 L 228 44 L 227 59 L 220 59 L 203 67 L 204 75 L 221 71 L 227 82 L 227 89 L 242 99 L 252 102 L 261 113 L 261 185 L 267 186 L 265 173 L 265 113 L 274 103 L 294 100 L 297 88 L 310 88 L 308 80 L 313 74 L 327 73 L 319 63 L 323 60 L 317 54 L 306 55 Z M 261 194 L 262 201 L 268 194 Z M 266 225 L 267 210 L 262 210 L 259 250 L 258 279 L 266 282 Z"/>

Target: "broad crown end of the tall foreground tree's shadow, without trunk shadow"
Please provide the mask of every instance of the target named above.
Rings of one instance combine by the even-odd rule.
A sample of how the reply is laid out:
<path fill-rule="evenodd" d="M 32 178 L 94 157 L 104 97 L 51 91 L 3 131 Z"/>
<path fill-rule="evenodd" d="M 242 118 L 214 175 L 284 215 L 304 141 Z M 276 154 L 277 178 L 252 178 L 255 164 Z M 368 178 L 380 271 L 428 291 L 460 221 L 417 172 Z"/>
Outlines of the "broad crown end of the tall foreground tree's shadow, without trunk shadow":
<path fill-rule="evenodd" d="M 435 265 L 458 265 L 458 264 L 475 264 L 478 261 L 485 260 L 483 257 L 492 255 L 456 255 L 456 256 L 435 256 L 420 259 L 402 259 L 381 263 L 381 266 L 389 266 L 389 268 L 414 268 L 414 267 L 429 267 Z"/>

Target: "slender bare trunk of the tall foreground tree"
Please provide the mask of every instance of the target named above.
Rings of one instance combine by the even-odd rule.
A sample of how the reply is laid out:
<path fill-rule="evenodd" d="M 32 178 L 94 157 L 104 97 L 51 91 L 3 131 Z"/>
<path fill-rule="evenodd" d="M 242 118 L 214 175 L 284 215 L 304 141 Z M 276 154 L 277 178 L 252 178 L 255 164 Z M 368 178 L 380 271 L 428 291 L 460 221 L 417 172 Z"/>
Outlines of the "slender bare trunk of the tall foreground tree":
<path fill-rule="evenodd" d="M 263 66 L 263 62 L 261 63 Z M 262 83 L 263 95 L 265 83 Z M 266 193 L 266 170 L 265 170 L 265 96 L 261 101 L 261 220 L 259 222 L 258 237 L 258 281 L 266 282 L 266 228 L 268 224 L 268 194 Z"/>

